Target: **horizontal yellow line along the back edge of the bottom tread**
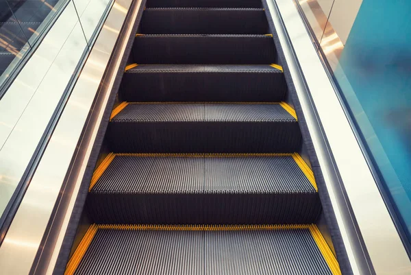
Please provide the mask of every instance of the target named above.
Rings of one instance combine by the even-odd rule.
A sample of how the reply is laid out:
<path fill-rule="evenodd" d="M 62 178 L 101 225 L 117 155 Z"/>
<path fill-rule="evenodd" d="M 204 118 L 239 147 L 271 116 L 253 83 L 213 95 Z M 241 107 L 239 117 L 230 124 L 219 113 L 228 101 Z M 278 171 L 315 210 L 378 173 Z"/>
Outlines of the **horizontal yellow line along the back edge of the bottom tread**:
<path fill-rule="evenodd" d="M 178 231 L 236 231 L 236 230 L 292 230 L 308 229 L 308 224 L 261 225 L 162 225 L 162 224 L 99 224 L 99 229 L 112 230 L 178 230 Z"/>

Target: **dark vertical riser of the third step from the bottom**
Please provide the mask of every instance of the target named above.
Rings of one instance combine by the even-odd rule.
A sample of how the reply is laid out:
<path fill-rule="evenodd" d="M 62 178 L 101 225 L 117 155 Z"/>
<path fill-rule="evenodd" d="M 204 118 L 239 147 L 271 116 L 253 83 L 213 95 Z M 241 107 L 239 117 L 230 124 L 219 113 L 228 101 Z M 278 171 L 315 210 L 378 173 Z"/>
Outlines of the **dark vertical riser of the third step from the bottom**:
<path fill-rule="evenodd" d="M 114 152 L 286 153 L 297 152 L 297 122 L 112 122 Z"/>

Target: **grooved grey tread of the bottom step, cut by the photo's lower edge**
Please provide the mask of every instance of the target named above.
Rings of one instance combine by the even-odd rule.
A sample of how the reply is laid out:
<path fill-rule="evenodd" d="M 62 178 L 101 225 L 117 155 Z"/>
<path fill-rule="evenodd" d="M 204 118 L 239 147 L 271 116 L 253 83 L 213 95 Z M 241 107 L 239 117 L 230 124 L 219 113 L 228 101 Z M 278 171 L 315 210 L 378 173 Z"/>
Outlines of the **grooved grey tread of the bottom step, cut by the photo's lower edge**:
<path fill-rule="evenodd" d="M 308 229 L 99 229 L 76 275 L 332 275 Z"/>

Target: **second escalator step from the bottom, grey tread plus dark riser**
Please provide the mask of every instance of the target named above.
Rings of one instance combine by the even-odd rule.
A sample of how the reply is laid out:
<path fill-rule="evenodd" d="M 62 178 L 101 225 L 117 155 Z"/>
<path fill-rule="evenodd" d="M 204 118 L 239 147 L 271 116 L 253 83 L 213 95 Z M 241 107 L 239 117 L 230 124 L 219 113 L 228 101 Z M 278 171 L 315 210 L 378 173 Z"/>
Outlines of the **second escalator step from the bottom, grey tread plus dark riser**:
<path fill-rule="evenodd" d="M 321 203 L 298 159 L 117 154 L 91 186 L 87 209 L 99 224 L 312 223 Z"/>

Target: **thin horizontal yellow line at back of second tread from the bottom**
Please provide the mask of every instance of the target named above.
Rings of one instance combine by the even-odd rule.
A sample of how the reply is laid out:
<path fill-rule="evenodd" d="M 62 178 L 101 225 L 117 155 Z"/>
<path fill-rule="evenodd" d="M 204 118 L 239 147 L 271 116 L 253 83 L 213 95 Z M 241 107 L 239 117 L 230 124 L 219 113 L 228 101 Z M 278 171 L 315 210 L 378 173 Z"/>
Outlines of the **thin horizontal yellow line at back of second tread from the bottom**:
<path fill-rule="evenodd" d="M 138 157 L 239 157 L 239 156 L 292 156 L 292 154 L 288 153 L 235 153 L 235 154 L 175 154 L 175 153 L 119 153 L 115 154 L 116 156 L 138 156 Z"/>

